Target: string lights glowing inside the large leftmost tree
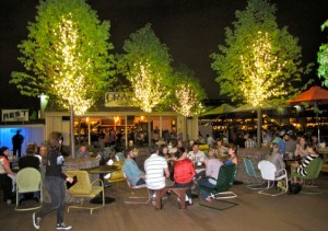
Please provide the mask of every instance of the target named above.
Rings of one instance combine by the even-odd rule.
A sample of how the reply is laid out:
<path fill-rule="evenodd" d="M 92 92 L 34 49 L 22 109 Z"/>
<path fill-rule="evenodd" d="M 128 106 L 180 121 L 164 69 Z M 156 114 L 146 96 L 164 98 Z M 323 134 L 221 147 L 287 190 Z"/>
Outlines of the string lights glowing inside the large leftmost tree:
<path fill-rule="evenodd" d="M 73 106 L 77 115 L 83 115 L 94 104 L 94 100 L 87 95 L 95 86 L 85 81 L 91 60 L 82 59 L 78 47 L 79 32 L 71 18 L 71 14 L 63 16 L 58 27 L 52 31 L 58 37 L 54 43 L 55 58 L 58 61 L 52 73 L 51 89 L 54 94 L 61 99 L 59 103 L 65 108 Z"/>

